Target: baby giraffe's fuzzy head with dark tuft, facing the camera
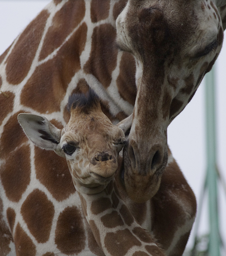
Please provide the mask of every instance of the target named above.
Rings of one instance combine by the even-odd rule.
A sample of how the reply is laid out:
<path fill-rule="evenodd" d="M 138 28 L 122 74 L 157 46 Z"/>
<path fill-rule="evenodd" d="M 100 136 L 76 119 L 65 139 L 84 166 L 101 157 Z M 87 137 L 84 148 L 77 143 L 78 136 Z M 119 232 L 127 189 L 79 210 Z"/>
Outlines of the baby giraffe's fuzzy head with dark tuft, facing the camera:
<path fill-rule="evenodd" d="M 71 118 L 62 130 L 42 116 L 23 113 L 18 120 L 35 145 L 66 158 L 76 189 L 99 193 L 118 169 L 125 135 L 104 115 L 93 91 L 72 95 L 67 108 Z"/>

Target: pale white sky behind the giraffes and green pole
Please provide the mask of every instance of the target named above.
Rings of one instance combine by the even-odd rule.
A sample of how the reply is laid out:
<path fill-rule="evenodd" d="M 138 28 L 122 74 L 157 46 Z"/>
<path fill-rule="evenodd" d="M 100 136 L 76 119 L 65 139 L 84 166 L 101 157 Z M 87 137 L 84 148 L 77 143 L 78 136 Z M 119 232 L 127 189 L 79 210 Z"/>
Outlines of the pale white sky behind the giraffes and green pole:
<path fill-rule="evenodd" d="M 0 0 L 0 54 L 50 0 Z M 226 40 L 217 59 L 217 164 L 226 180 Z M 197 199 L 206 171 L 204 82 L 192 101 L 168 129 L 168 143 Z M 219 186 L 221 237 L 226 245 L 226 194 Z M 207 198 L 204 200 L 199 234 L 208 232 Z M 193 232 L 188 247 L 193 244 Z"/>

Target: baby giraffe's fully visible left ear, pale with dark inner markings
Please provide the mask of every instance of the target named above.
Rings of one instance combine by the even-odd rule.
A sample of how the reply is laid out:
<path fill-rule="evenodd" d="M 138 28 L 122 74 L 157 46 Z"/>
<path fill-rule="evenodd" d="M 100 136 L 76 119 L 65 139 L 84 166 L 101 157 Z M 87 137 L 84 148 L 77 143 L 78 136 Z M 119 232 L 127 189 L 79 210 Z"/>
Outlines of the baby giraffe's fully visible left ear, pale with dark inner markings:
<path fill-rule="evenodd" d="M 61 130 L 53 126 L 47 118 L 22 113 L 18 115 L 18 121 L 34 145 L 46 150 L 59 150 Z"/>

